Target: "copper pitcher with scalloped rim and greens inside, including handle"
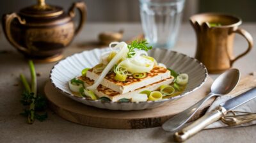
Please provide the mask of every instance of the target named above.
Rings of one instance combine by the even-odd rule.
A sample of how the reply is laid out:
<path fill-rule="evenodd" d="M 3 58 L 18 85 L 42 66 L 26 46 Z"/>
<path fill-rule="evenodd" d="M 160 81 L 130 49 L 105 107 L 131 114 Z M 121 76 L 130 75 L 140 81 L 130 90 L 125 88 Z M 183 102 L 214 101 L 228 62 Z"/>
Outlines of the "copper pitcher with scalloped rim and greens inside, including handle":
<path fill-rule="evenodd" d="M 197 38 L 196 59 L 205 64 L 209 73 L 221 73 L 232 67 L 237 59 L 246 55 L 253 47 L 250 33 L 238 26 L 242 20 L 218 13 L 202 13 L 190 17 Z M 235 33 L 248 41 L 248 48 L 234 57 L 233 43 Z"/>

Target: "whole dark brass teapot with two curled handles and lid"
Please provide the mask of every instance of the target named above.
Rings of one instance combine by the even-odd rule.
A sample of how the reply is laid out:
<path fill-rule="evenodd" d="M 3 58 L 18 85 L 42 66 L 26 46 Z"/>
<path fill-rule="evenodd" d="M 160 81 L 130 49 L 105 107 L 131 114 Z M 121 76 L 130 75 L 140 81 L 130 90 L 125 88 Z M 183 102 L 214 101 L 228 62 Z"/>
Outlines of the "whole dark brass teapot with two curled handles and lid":
<path fill-rule="evenodd" d="M 73 18 L 79 10 L 79 24 Z M 73 3 L 68 13 L 59 6 L 45 4 L 44 0 L 18 13 L 3 16 L 3 31 L 10 43 L 29 59 L 58 61 L 65 47 L 81 31 L 86 20 L 84 2 Z"/>

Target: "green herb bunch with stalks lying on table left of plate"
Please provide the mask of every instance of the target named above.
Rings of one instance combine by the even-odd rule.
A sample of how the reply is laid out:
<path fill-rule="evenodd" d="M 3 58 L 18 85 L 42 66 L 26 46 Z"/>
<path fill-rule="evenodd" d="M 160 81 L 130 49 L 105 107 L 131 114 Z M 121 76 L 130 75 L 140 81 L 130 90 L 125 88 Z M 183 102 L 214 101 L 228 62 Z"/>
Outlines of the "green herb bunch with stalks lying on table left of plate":
<path fill-rule="evenodd" d="M 28 123 L 33 124 L 35 119 L 44 121 L 47 118 L 47 112 L 44 112 L 47 107 L 47 100 L 41 94 L 37 94 L 35 66 L 31 60 L 29 60 L 29 69 L 31 73 L 31 87 L 24 75 L 20 74 L 20 79 L 25 87 L 20 100 L 20 103 L 24 105 L 24 112 L 20 113 L 20 115 L 28 117 Z"/>

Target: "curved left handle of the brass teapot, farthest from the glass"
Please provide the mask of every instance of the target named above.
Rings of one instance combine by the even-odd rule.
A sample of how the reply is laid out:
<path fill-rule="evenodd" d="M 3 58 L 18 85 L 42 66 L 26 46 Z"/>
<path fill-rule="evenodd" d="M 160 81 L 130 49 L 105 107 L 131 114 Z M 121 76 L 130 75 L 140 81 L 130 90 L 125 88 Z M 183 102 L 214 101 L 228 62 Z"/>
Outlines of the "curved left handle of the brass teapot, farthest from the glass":
<path fill-rule="evenodd" d="M 28 52 L 28 49 L 22 47 L 19 43 L 17 43 L 11 34 L 11 24 L 12 24 L 12 20 L 14 19 L 18 19 L 20 24 L 26 24 L 26 20 L 21 19 L 19 15 L 17 15 L 17 13 L 12 13 L 12 14 L 7 14 L 4 15 L 3 17 L 3 30 L 4 30 L 4 34 L 7 38 L 8 41 L 10 41 L 10 43 L 17 48 L 18 50 L 21 50 L 22 52 Z"/>

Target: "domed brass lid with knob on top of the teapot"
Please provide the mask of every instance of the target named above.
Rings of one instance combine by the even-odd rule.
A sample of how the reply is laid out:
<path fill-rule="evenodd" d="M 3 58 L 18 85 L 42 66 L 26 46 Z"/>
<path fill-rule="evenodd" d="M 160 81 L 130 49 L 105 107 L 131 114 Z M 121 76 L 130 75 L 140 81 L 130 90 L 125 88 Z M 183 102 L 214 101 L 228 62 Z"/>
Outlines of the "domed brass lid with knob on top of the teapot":
<path fill-rule="evenodd" d="M 20 14 L 28 17 L 54 17 L 63 13 L 61 7 L 45 4 L 45 0 L 37 0 L 37 2 L 33 6 L 20 10 Z"/>

